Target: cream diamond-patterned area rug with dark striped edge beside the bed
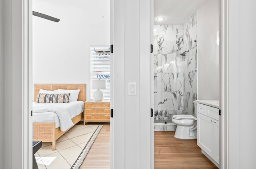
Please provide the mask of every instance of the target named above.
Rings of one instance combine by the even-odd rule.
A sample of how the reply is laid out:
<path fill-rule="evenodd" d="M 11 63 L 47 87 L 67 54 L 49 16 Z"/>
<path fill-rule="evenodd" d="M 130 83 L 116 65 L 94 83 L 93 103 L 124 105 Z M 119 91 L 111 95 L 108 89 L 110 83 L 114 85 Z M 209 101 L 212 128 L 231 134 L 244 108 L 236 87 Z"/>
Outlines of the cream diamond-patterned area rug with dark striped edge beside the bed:
<path fill-rule="evenodd" d="M 56 140 L 56 150 L 51 143 L 42 143 L 35 154 L 39 169 L 79 169 L 103 125 L 74 125 Z"/>

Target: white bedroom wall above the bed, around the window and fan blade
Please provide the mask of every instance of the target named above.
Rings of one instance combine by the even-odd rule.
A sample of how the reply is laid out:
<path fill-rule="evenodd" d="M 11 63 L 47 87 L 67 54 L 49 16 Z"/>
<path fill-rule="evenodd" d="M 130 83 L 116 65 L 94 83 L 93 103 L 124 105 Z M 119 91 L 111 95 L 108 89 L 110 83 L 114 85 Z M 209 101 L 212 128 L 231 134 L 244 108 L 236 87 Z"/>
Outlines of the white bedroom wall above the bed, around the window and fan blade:
<path fill-rule="evenodd" d="M 90 99 L 90 44 L 109 44 L 109 0 L 33 0 L 33 83 L 86 84 Z M 106 19 L 101 16 L 107 16 Z M 104 42 L 104 43 L 100 43 Z"/>

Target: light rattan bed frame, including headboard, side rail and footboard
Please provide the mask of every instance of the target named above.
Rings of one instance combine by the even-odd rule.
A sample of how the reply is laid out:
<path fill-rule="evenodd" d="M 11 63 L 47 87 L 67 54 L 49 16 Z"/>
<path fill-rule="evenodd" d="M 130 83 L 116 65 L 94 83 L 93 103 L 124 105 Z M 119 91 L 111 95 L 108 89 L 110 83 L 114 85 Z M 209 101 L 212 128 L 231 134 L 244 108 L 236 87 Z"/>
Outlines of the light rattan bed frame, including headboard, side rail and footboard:
<path fill-rule="evenodd" d="M 76 90 L 80 89 L 78 101 L 85 101 L 85 84 L 34 84 L 34 101 L 40 89 L 44 90 Z M 40 103 L 39 103 L 40 104 Z M 47 104 L 47 103 L 42 103 Z M 56 103 L 62 104 L 62 103 Z M 34 113 L 33 113 L 34 114 Z M 74 125 L 84 118 L 84 113 L 79 113 L 71 120 Z M 73 127 L 72 125 L 71 127 Z M 71 127 L 65 131 L 61 131 L 60 127 L 56 128 L 55 122 L 33 122 L 33 141 L 52 142 L 52 150 L 56 149 L 56 140 L 66 133 Z"/>

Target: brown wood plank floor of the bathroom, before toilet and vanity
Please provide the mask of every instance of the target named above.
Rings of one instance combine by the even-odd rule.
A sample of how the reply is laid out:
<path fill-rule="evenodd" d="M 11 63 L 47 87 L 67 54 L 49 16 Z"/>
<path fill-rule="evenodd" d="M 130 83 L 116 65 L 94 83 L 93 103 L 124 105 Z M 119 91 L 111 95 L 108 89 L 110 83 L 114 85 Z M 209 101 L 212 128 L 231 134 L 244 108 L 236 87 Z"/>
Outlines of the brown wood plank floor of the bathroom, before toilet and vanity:
<path fill-rule="evenodd" d="M 154 131 L 154 169 L 218 169 L 196 145 L 176 139 L 175 131 Z"/>

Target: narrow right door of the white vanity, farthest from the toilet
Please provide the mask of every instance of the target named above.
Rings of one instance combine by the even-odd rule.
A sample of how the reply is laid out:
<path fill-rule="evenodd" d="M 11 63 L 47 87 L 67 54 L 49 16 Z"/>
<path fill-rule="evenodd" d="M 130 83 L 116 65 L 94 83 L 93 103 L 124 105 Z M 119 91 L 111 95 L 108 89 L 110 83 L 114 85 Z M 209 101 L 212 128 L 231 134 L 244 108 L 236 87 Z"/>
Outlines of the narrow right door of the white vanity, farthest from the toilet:
<path fill-rule="evenodd" d="M 219 121 L 214 121 L 214 156 L 213 159 L 220 163 L 220 127 Z"/>

